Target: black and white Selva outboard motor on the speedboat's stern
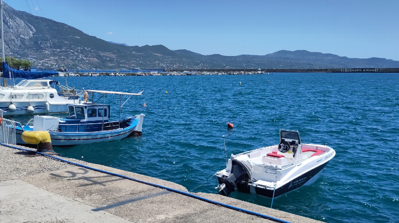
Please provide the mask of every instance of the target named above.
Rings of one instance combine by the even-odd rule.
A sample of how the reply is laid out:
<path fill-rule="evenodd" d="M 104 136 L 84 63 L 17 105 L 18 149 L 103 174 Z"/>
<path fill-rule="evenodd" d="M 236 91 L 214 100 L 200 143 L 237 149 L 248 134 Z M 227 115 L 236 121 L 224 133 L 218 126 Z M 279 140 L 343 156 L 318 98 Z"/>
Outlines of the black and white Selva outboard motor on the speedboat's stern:
<path fill-rule="evenodd" d="M 247 155 L 240 155 L 231 161 L 231 172 L 227 177 L 219 178 L 219 194 L 229 196 L 235 187 L 241 192 L 249 193 L 247 180 L 252 176 L 252 162 Z M 247 191 L 246 191 L 246 189 Z"/>

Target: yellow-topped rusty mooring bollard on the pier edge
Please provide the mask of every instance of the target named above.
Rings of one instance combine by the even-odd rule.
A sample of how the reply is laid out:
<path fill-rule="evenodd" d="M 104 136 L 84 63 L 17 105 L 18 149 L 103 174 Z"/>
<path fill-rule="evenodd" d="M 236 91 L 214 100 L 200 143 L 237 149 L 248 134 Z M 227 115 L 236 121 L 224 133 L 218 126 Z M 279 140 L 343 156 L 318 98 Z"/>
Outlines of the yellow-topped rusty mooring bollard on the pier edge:
<path fill-rule="evenodd" d="M 21 136 L 24 142 L 29 144 L 37 144 L 37 152 L 41 152 L 47 155 L 59 155 L 54 152 L 53 146 L 51 145 L 50 134 L 47 131 L 24 131 Z M 40 154 L 28 155 L 28 156 L 41 156 Z"/>

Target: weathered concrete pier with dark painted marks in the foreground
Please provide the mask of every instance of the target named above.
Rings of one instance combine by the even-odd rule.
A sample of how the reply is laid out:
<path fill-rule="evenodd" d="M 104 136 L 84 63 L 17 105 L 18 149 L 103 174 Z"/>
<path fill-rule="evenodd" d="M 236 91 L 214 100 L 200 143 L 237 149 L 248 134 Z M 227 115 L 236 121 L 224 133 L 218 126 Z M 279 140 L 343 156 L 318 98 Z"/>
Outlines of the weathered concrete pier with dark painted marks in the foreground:
<path fill-rule="evenodd" d="M 0 146 L 0 222 L 273 222 L 219 205 L 99 173 L 43 156 L 26 157 Z M 179 184 L 81 160 L 63 158 L 139 180 L 187 189 Z M 314 219 L 211 193 L 201 197 L 292 223 Z"/>

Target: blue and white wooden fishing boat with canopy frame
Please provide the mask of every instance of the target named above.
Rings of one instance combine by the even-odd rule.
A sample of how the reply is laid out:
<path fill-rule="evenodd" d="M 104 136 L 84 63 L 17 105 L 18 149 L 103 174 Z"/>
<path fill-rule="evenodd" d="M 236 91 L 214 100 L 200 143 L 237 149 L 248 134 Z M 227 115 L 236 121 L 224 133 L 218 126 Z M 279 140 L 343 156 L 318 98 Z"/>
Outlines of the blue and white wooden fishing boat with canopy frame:
<path fill-rule="evenodd" d="M 87 103 L 90 94 L 103 94 L 103 102 L 106 94 L 120 95 L 119 120 L 109 121 L 110 106 L 105 103 Z M 94 91 L 87 90 L 83 94 L 83 100 L 79 103 L 67 104 L 69 117 L 59 118 L 55 116 L 34 116 L 28 124 L 16 127 L 17 144 L 26 145 L 21 135 L 24 131 L 47 131 L 51 137 L 53 146 L 74 146 L 94 142 L 106 142 L 120 140 L 128 136 L 142 134 L 142 123 L 144 114 L 137 114 L 120 120 L 120 109 L 122 95 L 142 95 L 139 93 L 122 93 L 115 91 Z"/>

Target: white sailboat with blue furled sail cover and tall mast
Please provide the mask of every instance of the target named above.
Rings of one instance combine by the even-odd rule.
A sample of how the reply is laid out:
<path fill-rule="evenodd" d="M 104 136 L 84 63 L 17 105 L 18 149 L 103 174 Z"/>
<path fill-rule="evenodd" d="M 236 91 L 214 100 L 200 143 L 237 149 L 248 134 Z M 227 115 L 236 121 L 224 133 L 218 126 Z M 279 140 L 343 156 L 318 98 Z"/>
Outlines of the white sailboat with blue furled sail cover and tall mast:
<path fill-rule="evenodd" d="M 2 71 L 3 86 L 0 87 L 0 109 L 4 116 L 17 116 L 23 114 L 46 114 L 66 112 L 68 103 L 77 102 L 77 91 L 70 87 L 60 85 L 60 92 L 51 87 L 57 81 L 41 79 L 58 72 L 38 72 L 36 69 L 22 71 L 11 69 L 5 61 L 4 34 L 3 34 L 3 1 L 0 0 L 1 44 L 2 44 Z M 7 78 L 22 78 L 17 85 L 9 86 Z M 65 94 L 65 92 L 68 92 Z"/>

